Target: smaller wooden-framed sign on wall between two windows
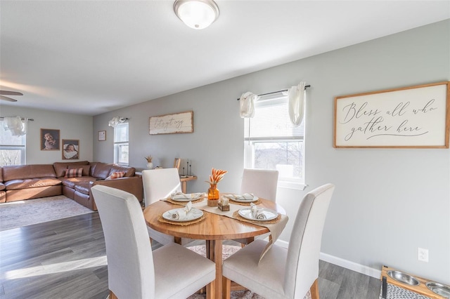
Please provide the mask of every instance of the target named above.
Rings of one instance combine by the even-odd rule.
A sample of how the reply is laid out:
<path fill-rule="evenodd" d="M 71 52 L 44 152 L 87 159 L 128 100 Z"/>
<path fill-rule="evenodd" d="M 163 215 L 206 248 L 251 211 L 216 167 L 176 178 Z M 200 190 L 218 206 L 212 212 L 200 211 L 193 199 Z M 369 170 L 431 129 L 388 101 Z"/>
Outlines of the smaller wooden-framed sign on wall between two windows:
<path fill-rule="evenodd" d="M 150 117 L 150 135 L 193 133 L 193 119 L 193 111 Z"/>

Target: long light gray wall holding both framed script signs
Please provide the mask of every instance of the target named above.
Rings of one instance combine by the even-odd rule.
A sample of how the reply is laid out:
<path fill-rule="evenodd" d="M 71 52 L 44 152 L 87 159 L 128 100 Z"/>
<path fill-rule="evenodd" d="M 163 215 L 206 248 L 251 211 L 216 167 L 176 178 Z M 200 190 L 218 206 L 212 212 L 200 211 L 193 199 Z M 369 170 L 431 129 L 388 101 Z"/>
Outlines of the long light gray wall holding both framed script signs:
<path fill-rule="evenodd" d="M 301 38 L 301 36 L 299 36 Z M 219 189 L 237 192 L 243 171 L 243 119 L 238 98 L 307 81 L 305 190 L 279 189 L 277 201 L 290 222 L 306 192 L 336 185 L 323 232 L 322 258 L 373 274 L 382 265 L 450 284 L 450 154 L 448 149 L 335 149 L 333 100 L 338 95 L 448 81 L 450 21 L 297 60 L 94 117 L 94 160 L 113 161 L 108 120 L 129 117 L 130 165 L 172 166 L 191 161 L 198 180 L 189 192 L 207 189 L 212 167 L 229 171 Z M 151 86 L 149 86 L 151 88 Z M 149 135 L 148 118 L 193 110 L 194 132 Z M 97 141 L 97 131 L 107 140 Z M 428 248 L 429 263 L 417 260 Z M 376 272 L 376 271 L 375 271 Z"/>

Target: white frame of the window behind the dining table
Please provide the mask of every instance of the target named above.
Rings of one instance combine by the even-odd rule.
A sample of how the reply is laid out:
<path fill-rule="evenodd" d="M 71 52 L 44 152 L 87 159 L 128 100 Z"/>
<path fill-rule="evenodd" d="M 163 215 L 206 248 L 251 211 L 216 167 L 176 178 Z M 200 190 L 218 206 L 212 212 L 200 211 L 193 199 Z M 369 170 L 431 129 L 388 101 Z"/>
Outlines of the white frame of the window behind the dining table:
<path fill-rule="evenodd" d="M 286 105 L 288 105 L 287 95 L 283 93 L 278 93 L 275 95 L 270 95 L 266 98 L 260 98 L 259 100 L 263 101 L 271 101 L 271 100 L 280 100 L 280 98 L 285 98 Z M 269 104 L 270 105 L 270 104 Z M 257 107 L 255 108 L 255 115 L 258 113 Z M 288 117 L 288 116 L 287 116 Z M 248 121 L 252 119 L 245 119 L 244 128 L 248 128 Z M 304 124 L 302 124 L 304 126 Z M 245 129 L 246 130 L 246 129 Z M 304 142 L 304 132 L 301 136 L 283 136 L 283 137 L 274 137 L 274 136 L 262 136 L 262 137 L 248 137 L 249 133 L 244 132 L 244 167 L 245 168 L 255 168 L 255 144 L 258 142 L 300 142 L 300 149 L 302 152 L 300 164 L 302 165 L 302 178 L 287 178 L 287 177 L 278 177 L 278 187 L 293 189 L 293 190 L 304 190 L 307 187 L 305 183 L 305 142 Z"/>

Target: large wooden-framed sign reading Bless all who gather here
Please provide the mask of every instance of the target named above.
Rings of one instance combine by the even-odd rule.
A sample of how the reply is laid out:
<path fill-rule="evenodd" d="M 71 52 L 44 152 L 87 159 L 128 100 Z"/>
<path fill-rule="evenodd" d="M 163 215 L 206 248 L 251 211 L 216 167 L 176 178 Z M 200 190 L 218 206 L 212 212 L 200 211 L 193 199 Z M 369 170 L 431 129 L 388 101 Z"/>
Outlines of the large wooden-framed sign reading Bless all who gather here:
<path fill-rule="evenodd" d="M 450 81 L 335 98 L 334 147 L 449 148 Z"/>

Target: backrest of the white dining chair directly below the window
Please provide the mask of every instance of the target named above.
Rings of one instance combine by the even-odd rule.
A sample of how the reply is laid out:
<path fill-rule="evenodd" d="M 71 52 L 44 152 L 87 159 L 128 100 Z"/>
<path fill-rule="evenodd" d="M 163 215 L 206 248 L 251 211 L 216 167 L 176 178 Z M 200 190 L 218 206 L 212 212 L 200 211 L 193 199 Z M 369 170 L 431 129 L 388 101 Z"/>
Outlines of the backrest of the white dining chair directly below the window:
<path fill-rule="evenodd" d="M 278 171 L 244 168 L 240 193 L 252 193 L 257 197 L 276 201 Z"/>

